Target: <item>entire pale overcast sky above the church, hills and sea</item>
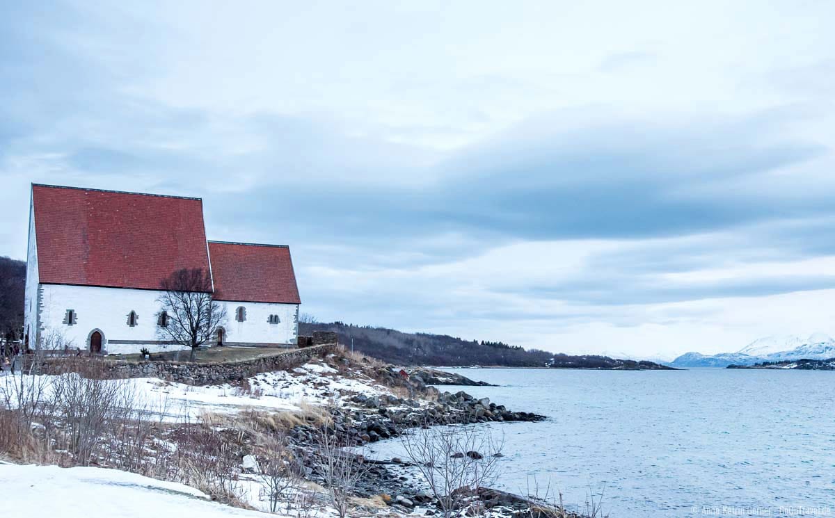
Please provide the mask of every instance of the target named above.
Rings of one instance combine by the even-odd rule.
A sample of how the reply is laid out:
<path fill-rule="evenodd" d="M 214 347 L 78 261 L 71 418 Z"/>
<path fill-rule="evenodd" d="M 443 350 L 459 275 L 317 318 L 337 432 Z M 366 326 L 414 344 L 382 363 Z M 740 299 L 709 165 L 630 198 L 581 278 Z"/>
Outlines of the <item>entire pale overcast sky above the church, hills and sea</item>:
<path fill-rule="evenodd" d="M 10 4 L 0 254 L 31 182 L 183 194 L 210 239 L 291 245 L 321 320 L 835 334 L 835 3 Z"/>

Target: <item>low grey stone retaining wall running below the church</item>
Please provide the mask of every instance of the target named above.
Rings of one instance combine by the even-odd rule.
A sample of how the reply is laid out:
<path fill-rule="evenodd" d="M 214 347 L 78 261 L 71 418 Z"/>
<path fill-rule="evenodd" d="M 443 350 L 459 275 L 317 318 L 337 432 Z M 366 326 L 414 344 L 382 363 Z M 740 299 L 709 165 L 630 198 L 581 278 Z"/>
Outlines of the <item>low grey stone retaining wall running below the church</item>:
<path fill-rule="evenodd" d="M 277 355 L 253 360 L 217 363 L 190 363 L 177 361 L 125 361 L 101 360 L 107 378 L 159 378 L 188 385 L 211 385 L 227 381 L 243 380 L 261 372 L 289 370 L 306 364 L 312 358 L 336 352 L 338 344 L 321 344 L 306 349 L 291 350 Z M 84 357 L 47 358 L 43 360 L 43 374 L 58 374 L 83 370 L 89 365 Z"/>

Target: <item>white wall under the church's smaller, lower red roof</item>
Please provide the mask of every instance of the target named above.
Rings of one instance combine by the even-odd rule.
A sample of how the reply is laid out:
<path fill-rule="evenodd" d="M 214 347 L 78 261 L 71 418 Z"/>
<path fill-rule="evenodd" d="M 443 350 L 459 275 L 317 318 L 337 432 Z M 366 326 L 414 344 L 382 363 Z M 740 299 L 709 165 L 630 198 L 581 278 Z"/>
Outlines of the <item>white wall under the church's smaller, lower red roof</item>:
<path fill-rule="evenodd" d="M 298 304 L 223 301 L 226 307 L 227 344 L 291 344 L 296 345 Z M 246 319 L 235 320 L 235 312 L 243 307 Z M 278 324 L 270 324 L 270 315 L 277 314 Z"/>

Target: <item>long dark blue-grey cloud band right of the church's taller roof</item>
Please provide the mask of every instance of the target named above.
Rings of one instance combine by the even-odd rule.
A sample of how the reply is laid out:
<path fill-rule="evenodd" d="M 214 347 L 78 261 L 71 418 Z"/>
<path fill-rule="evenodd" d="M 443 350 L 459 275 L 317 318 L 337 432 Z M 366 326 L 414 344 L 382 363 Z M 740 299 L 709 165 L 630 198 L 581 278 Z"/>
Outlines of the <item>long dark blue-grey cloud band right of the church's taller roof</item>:
<path fill-rule="evenodd" d="M 282 128 L 286 123 L 273 122 Z M 225 206 L 223 218 L 257 225 L 289 211 L 303 215 L 297 224 L 305 233 L 342 236 L 347 245 L 384 240 L 400 249 L 443 232 L 483 239 L 489 247 L 513 239 L 669 237 L 832 214 L 832 187 L 825 183 L 819 192 L 798 198 L 791 185 L 795 176 L 784 182 L 786 189 L 762 193 L 763 182 L 781 183 L 769 178 L 772 172 L 826 152 L 791 139 L 774 142 L 762 122 L 755 114 L 722 131 L 716 125 L 669 130 L 625 122 L 522 143 L 499 136 L 434 165 L 414 166 L 406 159 L 399 167 L 393 160 L 368 163 L 347 153 L 357 145 L 374 147 L 369 142 L 330 139 L 321 147 L 323 160 L 317 146 L 276 138 L 269 153 L 242 159 L 250 170 L 275 168 L 276 176 L 243 194 L 245 205 Z M 321 141 L 309 129 L 306 138 Z M 709 161 L 700 159 L 707 155 Z M 293 184 L 295 174 L 305 170 L 311 174 L 303 178 L 326 170 L 328 179 Z M 346 180 L 358 172 L 429 180 L 416 185 Z"/>

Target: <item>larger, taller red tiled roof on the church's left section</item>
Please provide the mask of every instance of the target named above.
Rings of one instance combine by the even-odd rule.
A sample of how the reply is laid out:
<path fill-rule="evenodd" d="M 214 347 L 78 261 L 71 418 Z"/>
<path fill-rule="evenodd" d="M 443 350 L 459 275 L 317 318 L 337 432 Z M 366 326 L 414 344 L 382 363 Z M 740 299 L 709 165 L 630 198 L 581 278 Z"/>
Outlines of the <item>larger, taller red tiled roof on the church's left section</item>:
<path fill-rule="evenodd" d="M 32 199 L 42 283 L 159 289 L 209 268 L 200 199 L 38 184 Z"/>

